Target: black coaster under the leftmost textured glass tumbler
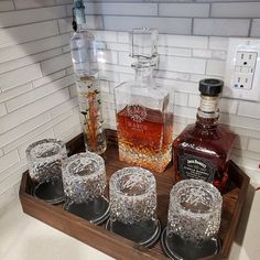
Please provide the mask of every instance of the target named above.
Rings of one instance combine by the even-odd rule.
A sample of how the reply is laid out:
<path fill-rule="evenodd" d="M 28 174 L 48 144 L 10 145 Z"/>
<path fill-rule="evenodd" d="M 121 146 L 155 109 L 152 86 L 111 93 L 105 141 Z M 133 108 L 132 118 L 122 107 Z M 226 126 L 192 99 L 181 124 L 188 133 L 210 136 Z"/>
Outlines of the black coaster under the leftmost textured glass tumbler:
<path fill-rule="evenodd" d="M 63 191 L 62 180 L 55 180 L 37 184 L 33 191 L 33 195 L 51 204 L 63 203 L 66 198 Z"/>

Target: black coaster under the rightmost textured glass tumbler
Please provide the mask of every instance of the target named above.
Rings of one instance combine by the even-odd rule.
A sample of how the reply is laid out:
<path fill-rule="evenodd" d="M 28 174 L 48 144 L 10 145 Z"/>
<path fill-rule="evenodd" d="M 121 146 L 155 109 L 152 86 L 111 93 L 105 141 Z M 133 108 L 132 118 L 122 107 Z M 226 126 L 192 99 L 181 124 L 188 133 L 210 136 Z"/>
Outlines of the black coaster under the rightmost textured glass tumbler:
<path fill-rule="evenodd" d="M 162 231 L 161 247 L 163 252 L 174 260 L 201 259 L 217 254 L 221 248 L 219 238 L 212 238 L 202 246 L 184 242 L 178 236 L 166 236 L 166 228 Z"/>

